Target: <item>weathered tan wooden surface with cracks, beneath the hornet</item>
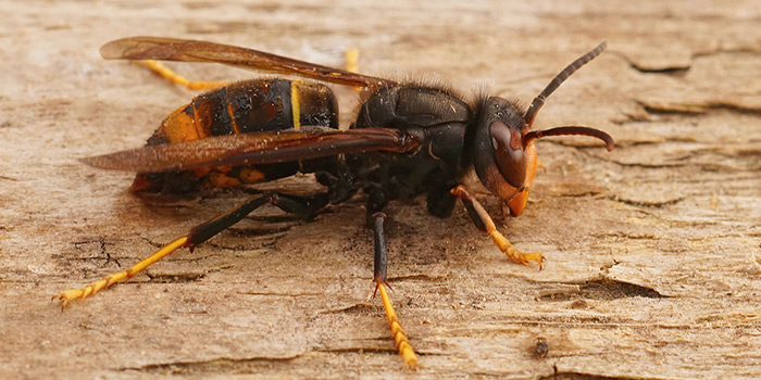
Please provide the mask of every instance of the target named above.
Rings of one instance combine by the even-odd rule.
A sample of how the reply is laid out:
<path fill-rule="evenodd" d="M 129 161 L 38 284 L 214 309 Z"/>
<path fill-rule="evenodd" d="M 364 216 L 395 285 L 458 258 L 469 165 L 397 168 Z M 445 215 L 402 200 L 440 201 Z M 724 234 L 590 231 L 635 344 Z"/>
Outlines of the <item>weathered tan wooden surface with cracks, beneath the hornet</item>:
<path fill-rule="evenodd" d="M 761 8 L 757 1 L 0 2 L 0 378 L 761 377 Z M 194 93 L 125 62 L 115 38 L 252 47 L 375 75 L 423 74 L 548 101 L 526 213 L 499 228 L 545 269 L 508 262 L 459 205 L 394 204 L 390 283 L 417 350 L 394 352 L 357 198 L 314 223 L 264 210 L 61 313 L 61 290 L 132 265 L 245 193 L 146 204 L 132 175 L 76 159 L 141 145 Z M 254 74 L 174 65 L 199 79 Z M 341 96 L 344 121 L 357 101 Z M 283 186 L 309 189 L 310 178 Z M 484 199 L 499 215 L 494 199 Z M 545 358 L 534 355 L 546 339 Z"/>

